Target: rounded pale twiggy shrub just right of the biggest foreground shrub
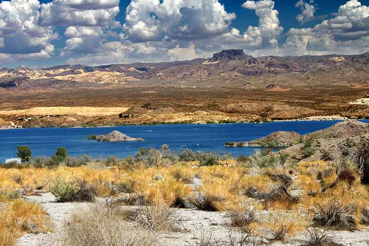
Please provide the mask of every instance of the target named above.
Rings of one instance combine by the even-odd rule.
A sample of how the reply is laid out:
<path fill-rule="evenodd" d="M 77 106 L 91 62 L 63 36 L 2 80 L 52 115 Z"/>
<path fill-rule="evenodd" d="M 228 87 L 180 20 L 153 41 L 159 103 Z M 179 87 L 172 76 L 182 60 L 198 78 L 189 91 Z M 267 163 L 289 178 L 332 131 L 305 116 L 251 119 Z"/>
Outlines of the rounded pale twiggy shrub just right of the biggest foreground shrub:
<path fill-rule="evenodd" d="M 161 202 L 140 207 L 133 220 L 138 228 L 150 231 L 178 231 L 181 225 L 177 212 Z"/>

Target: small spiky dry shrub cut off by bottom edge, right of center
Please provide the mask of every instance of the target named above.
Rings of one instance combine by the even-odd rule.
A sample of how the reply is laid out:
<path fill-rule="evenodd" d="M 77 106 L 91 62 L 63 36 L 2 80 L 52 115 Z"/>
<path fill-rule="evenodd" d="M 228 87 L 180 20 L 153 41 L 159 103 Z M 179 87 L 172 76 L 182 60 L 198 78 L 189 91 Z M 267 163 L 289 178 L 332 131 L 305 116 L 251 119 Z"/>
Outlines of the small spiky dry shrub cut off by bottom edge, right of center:
<path fill-rule="evenodd" d="M 338 244 L 329 233 L 312 228 L 307 230 L 307 235 L 299 246 L 338 246 Z"/>

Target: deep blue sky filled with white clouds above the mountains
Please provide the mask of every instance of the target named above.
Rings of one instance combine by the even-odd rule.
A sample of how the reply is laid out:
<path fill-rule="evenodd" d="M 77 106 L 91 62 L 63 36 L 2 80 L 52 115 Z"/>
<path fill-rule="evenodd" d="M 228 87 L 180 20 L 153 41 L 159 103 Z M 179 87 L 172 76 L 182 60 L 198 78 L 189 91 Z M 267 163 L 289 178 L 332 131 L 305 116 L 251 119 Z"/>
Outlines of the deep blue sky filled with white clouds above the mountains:
<path fill-rule="evenodd" d="M 0 67 L 369 51 L 369 0 L 0 0 Z"/>

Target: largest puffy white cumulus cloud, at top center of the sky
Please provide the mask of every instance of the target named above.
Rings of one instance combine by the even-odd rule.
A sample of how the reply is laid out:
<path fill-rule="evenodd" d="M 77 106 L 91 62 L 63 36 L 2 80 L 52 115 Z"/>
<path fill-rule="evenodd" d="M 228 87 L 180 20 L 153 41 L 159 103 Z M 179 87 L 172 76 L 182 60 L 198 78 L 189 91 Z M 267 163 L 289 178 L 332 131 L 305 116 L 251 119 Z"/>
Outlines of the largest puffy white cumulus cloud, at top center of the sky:
<path fill-rule="evenodd" d="M 235 18 L 218 0 L 131 0 L 124 30 L 134 42 L 201 39 L 227 32 Z"/>

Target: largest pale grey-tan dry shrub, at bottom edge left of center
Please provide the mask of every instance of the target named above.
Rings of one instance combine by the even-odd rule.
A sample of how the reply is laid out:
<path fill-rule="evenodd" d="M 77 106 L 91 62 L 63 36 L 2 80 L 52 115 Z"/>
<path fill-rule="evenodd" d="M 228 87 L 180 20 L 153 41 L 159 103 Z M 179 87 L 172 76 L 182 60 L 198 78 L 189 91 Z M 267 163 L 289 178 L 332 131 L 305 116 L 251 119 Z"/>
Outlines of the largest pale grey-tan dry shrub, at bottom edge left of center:
<path fill-rule="evenodd" d="M 158 239 L 142 228 L 134 228 L 119 208 L 93 205 L 72 215 L 64 224 L 63 245 L 69 246 L 158 246 Z"/>

